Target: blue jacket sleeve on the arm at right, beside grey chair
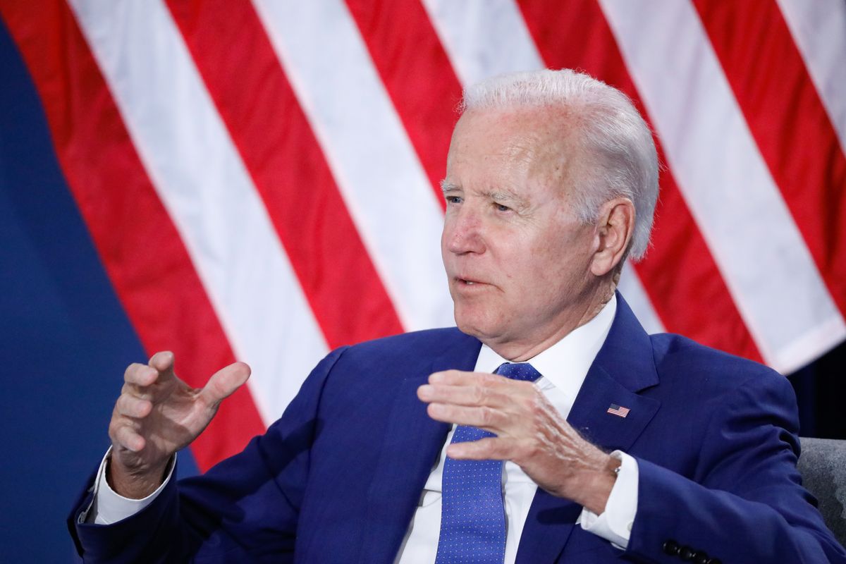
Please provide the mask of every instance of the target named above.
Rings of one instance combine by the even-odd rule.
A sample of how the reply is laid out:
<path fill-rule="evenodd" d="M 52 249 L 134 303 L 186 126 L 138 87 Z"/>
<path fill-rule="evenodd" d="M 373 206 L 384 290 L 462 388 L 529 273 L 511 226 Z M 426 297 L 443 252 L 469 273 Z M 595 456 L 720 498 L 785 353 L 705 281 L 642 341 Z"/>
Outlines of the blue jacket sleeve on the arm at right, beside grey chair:
<path fill-rule="evenodd" d="M 638 508 L 627 556 L 667 564 L 691 553 L 693 561 L 727 564 L 846 562 L 816 500 L 801 486 L 788 380 L 755 378 L 711 408 L 695 475 L 638 459 Z"/>

